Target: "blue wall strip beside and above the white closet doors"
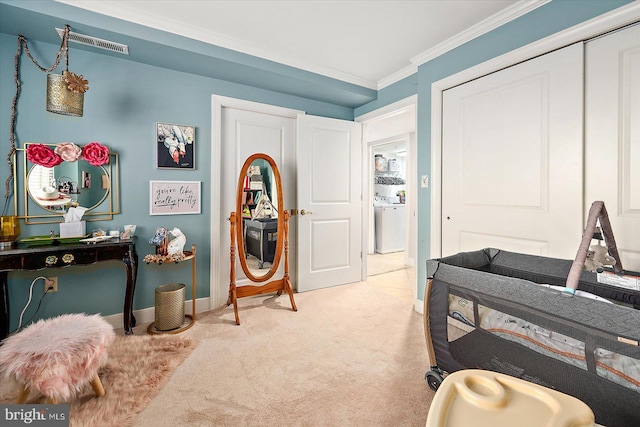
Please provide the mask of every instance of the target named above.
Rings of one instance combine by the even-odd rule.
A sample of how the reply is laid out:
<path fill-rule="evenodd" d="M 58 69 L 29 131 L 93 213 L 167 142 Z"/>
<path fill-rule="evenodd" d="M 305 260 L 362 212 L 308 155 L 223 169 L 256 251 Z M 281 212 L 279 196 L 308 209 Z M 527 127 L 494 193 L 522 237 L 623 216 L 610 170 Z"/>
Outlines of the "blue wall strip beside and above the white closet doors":
<path fill-rule="evenodd" d="M 431 177 L 431 187 L 440 185 L 439 177 L 431 173 L 431 85 L 492 58 L 520 48 L 554 33 L 602 15 L 632 0 L 554 0 L 495 30 L 471 40 L 418 67 L 416 75 L 383 88 L 378 99 L 355 109 L 355 116 L 366 114 L 384 105 L 406 98 L 415 81 L 418 94 L 418 167 L 413 179 Z M 431 190 L 418 188 L 418 297 L 424 298 L 426 260 L 430 257 Z"/>

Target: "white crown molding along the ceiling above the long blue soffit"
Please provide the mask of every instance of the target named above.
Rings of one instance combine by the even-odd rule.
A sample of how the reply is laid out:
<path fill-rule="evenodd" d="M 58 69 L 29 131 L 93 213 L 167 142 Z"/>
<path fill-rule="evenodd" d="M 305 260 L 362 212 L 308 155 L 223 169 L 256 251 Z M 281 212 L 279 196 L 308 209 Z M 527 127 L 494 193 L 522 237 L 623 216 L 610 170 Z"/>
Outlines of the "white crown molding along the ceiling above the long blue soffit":
<path fill-rule="evenodd" d="M 288 65 L 300 70 L 320 74 L 326 77 L 334 78 L 346 83 L 352 83 L 363 86 L 368 89 L 377 89 L 377 82 L 353 74 L 345 73 L 329 67 L 301 61 L 289 55 L 282 55 L 265 48 L 244 43 L 236 38 L 225 36 L 215 31 L 201 30 L 183 22 L 173 19 L 161 17 L 152 11 L 142 11 L 138 8 L 128 6 L 123 2 L 103 1 L 87 1 L 87 0 L 55 0 L 58 3 L 64 3 L 69 6 L 78 7 L 101 15 L 111 16 L 123 21 L 131 22 L 145 27 L 159 29 L 161 31 L 187 37 L 193 40 L 202 41 L 204 43 L 223 47 L 225 49 L 255 56 L 257 58 L 266 59 L 268 61 L 277 62 L 279 64 Z"/>

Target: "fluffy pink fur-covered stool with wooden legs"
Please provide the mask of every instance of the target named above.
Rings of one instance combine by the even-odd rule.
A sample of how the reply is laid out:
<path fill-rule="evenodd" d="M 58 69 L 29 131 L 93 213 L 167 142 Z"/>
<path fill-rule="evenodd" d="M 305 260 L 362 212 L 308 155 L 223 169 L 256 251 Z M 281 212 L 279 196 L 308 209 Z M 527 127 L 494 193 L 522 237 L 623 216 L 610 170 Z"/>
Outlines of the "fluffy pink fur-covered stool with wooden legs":
<path fill-rule="evenodd" d="M 113 328 L 98 314 L 39 320 L 3 341 L 0 373 L 20 384 L 16 403 L 25 403 L 31 390 L 48 403 L 66 402 L 88 382 L 103 396 L 98 369 L 114 338 Z"/>

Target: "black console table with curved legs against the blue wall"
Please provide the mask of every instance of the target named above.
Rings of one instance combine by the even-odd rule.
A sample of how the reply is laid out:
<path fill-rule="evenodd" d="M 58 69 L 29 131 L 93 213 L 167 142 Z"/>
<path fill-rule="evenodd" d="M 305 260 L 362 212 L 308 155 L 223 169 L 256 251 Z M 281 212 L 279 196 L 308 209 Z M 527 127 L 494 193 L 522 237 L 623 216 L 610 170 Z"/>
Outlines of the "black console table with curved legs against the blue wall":
<path fill-rule="evenodd" d="M 17 270 L 42 270 L 73 265 L 94 264 L 101 261 L 120 260 L 127 271 L 127 289 L 124 297 L 124 332 L 133 334 L 136 318 L 133 316 L 133 294 L 138 275 L 138 253 L 133 240 L 114 240 L 95 244 L 72 243 L 28 246 L 0 249 L 0 339 L 9 334 L 9 286 L 8 273 Z"/>

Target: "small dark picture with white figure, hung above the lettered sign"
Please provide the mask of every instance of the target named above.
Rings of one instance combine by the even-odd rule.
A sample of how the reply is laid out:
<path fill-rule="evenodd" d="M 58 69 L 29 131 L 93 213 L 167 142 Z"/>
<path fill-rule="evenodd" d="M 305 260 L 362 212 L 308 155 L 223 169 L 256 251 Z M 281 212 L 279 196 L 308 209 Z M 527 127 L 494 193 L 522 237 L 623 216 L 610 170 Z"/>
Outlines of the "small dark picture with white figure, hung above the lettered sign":
<path fill-rule="evenodd" d="M 194 169 L 196 128 L 156 123 L 156 167 Z"/>

